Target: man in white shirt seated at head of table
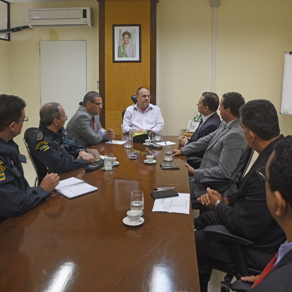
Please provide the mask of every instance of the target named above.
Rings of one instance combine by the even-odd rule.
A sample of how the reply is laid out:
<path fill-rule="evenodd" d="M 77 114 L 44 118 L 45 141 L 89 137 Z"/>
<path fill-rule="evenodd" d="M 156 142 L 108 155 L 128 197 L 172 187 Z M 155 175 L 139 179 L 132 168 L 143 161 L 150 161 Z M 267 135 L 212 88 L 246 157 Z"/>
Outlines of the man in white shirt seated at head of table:
<path fill-rule="evenodd" d="M 122 125 L 122 131 L 127 134 L 131 128 L 136 129 L 136 133 L 146 133 L 151 131 L 153 134 L 161 132 L 164 127 L 164 120 L 160 108 L 150 104 L 150 91 L 146 87 L 139 87 L 136 93 L 137 104 L 128 106 Z"/>

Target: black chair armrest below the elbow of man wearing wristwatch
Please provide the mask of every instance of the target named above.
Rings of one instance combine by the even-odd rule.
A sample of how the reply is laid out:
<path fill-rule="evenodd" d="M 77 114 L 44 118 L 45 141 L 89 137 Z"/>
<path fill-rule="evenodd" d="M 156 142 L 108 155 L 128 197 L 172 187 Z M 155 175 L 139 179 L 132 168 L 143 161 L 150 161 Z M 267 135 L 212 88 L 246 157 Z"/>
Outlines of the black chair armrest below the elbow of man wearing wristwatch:
<path fill-rule="evenodd" d="M 223 225 L 210 225 L 204 228 L 204 233 L 209 233 L 214 236 L 220 237 L 220 239 L 232 243 L 236 243 L 239 245 L 253 245 L 253 242 L 245 239 L 233 232 L 230 232 L 225 226 Z"/>

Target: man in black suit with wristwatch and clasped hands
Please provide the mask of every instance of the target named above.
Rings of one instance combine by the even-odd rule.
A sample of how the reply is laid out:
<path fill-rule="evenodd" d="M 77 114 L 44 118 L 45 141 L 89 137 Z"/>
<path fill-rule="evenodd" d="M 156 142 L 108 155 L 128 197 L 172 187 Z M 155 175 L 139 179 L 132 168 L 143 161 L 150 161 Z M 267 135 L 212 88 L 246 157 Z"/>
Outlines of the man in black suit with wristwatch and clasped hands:
<path fill-rule="evenodd" d="M 254 246 L 243 248 L 245 261 L 259 270 L 267 265 L 285 240 L 283 230 L 267 207 L 265 182 L 256 173 L 259 167 L 266 166 L 275 144 L 284 139 L 280 135 L 276 109 L 269 101 L 254 100 L 242 105 L 240 115 L 248 144 L 259 155 L 238 191 L 223 198 L 217 191 L 207 188 L 208 193 L 198 199 L 212 210 L 197 218 L 195 231 L 201 292 L 207 292 L 212 272 L 211 269 L 202 269 L 204 259 L 232 263 L 225 243 L 220 239 L 210 239 L 209 235 L 203 233 L 206 226 L 224 225 L 252 240 Z"/>

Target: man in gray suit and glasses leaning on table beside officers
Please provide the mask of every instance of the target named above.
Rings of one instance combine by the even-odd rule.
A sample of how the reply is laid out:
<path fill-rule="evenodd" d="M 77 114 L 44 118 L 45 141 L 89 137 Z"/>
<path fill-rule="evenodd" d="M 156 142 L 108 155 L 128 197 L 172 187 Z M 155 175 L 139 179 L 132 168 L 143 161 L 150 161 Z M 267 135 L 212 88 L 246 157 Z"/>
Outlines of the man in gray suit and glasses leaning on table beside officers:
<path fill-rule="evenodd" d="M 66 126 L 67 133 L 71 138 L 88 148 L 115 137 L 112 129 L 105 130 L 100 123 L 99 114 L 103 108 L 103 100 L 99 93 L 89 91 L 85 94 L 80 105 Z"/>

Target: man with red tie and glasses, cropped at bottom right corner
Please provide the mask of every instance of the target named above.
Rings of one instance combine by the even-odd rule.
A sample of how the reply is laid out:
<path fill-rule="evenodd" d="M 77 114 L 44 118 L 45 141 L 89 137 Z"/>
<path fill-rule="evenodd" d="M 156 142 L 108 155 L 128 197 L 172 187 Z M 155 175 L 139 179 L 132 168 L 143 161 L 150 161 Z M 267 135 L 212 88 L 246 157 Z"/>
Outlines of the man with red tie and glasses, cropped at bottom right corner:
<path fill-rule="evenodd" d="M 266 181 L 267 205 L 273 218 L 286 234 L 274 259 L 274 266 L 265 268 L 261 275 L 242 277 L 253 282 L 252 292 L 286 292 L 292 287 L 292 136 L 280 141 L 267 163 L 259 169 Z M 266 170 L 266 171 L 264 171 Z M 272 262 L 272 261 L 271 261 Z M 269 271 L 270 270 L 270 271 Z"/>

